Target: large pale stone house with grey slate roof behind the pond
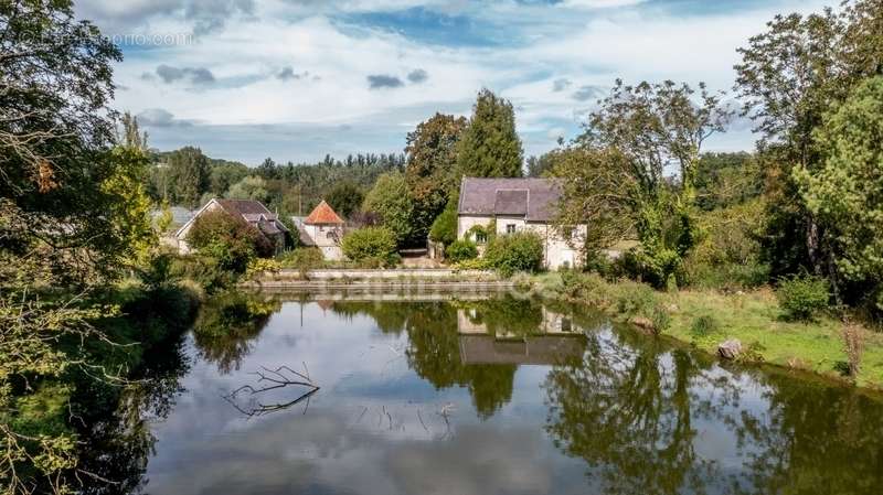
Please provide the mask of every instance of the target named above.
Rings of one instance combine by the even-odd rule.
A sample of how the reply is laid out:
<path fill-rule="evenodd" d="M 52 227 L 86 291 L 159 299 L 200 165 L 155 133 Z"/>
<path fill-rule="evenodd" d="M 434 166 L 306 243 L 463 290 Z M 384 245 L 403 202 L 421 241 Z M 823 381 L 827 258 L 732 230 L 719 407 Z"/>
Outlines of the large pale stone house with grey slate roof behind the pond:
<path fill-rule="evenodd" d="M 561 183 L 555 179 L 464 177 L 457 207 L 457 238 L 475 241 L 483 250 L 487 235 L 532 232 L 543 240 L 543 265 L 547 269 L 583 265 L 579 246 L 586 225 L 561 232 L 553 225 L 561 200 Z M 481 228 L 477 228 L 477 227 Z"/>

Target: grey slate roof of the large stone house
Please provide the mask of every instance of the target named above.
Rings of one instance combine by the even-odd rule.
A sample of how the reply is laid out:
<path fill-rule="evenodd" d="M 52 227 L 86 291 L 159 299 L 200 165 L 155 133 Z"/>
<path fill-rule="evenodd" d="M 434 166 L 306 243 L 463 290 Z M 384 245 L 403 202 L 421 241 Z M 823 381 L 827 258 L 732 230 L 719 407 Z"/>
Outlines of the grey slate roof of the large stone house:
<path fill-rule="evenodd" d="M 477 179 L 460 183 L 460 215 L 523 216 L 528 222 L 549 222 L 561 198 L 555 179 Z"/>

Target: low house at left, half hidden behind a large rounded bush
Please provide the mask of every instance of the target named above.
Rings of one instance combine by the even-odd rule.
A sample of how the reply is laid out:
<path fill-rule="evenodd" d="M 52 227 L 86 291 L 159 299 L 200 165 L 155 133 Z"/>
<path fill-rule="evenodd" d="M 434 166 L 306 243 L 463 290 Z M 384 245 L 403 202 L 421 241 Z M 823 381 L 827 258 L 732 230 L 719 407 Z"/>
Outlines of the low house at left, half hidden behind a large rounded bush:
<path fill-rule="evenodd" d="M 242 219 L 246 224 L 257 228 L 276 246 L 276 252 L 285 249 L 285 235 L 288 228 L 279 220 L 276 214 L 267 209 L 263 203 L 254 200 L 212 200 L 200 208 L 178 232 L 174 239 L 178 243 L 178 251 L 187 255 L 191 251 L 187 243 L 187 236 L 193 224 L 201 215 L 209 212 L 224 212 L 234 218 Z"/>

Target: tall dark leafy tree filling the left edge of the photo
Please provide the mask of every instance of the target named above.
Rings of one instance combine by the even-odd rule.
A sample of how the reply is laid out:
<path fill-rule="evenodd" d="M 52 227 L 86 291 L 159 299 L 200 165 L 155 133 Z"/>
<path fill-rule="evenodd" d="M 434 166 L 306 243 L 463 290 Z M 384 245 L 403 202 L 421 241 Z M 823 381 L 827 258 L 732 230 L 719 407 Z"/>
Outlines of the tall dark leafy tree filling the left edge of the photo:
<path fill-rule="evenodd" d="M 20 406 L 34 385 L 94 363 L 79 344 L 106 338 L 95 321 L 116 312 L 89 295 L 120 276 L 143 219 L 142 205 L 127 204 L 141 159 L 114 150 L 120 60 L 71 1 L 0 2 L 3 493 L 63 491 L 85 476 L 70 430 L 35 430 Z"/>

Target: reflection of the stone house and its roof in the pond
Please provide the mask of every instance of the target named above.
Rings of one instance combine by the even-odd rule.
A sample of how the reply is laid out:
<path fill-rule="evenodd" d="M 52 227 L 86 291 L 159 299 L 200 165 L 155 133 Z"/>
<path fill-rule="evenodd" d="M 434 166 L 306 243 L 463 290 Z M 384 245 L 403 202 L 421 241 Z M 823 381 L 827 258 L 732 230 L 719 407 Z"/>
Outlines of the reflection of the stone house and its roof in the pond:
<path fill-rule="evenodd" d="M 474 310 L 457 311 L 460 361 L 464 364 L 555 365 L 581 357 L 585 337 L 573 321 L 561 313 L 542 309 L 540 326 L 529 335 L 491 335 Z"/>

